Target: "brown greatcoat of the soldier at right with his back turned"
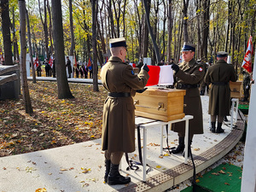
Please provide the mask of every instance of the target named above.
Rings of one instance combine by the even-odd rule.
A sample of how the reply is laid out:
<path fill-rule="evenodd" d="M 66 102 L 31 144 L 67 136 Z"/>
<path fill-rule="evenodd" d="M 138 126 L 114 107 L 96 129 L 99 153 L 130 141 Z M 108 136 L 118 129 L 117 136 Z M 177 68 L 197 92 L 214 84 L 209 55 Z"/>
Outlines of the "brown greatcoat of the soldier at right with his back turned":
<path fill-rule="evenodd" d="M 218 60 L 215 65 L 208 68 L 204 80 L 207 84 L 213 83 L 209 90 L 208 113 L 221 116 L 230 115 L 230 81 L 236 81 L 234 67 L 224 60 Z"/>

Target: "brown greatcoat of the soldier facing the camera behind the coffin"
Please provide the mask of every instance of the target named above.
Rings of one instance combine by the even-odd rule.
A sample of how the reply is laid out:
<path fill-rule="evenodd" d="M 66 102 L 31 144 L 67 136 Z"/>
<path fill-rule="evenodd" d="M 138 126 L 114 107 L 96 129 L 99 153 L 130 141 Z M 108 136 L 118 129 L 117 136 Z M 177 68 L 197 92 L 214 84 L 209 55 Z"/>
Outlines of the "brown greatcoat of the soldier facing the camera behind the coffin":
<path fill-rule="evenodd" d="M 195 59 L 192 59 L 189 62 L 183 61 L 179 67 L 180 70 L 175 74 L 177 77 L 177 88 L 179 84 L 191 84 L 192 86 L 198 84 L 199 86 L 205 75 L 205 66 L 202 63 L 197 63 Z M 194 119 L 189 120 L 189 135 L 202 134 L 203 120 L 199 88 L 193 87 L 182 89 L 186 90 L 186 95 L 184 96 L 184 113 L 186 115 L 189 114 L 194 116 Z M 180 122 L 172 125 L 172 131 L 176 131 L 184 136 L 185 123 Z"/>

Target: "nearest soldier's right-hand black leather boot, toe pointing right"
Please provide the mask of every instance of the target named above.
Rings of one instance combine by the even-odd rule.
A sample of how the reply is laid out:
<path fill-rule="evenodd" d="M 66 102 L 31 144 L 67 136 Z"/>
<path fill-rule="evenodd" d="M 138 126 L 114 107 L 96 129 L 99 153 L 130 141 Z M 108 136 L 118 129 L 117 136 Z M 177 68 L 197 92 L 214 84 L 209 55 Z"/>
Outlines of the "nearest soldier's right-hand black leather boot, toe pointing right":
<path fill-rule="evenodd" d="M 108 184 L 127 184 L 131 182 L 131 177 L 121 176 L 119 173 L 119 165 L 110 164 L 110 172 L 108 174 Z"/>

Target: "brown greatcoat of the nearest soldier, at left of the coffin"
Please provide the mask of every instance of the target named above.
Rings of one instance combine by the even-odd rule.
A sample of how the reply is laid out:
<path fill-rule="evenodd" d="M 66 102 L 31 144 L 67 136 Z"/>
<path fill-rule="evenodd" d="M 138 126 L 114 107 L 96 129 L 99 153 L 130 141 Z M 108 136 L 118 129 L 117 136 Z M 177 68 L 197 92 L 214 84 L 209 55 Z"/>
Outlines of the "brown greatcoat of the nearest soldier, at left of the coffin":
<path fill-rule="evenodd" d="M 108 92 L 129 92 L 135 96 L 148 82 L 149 75 L 141 70 L 137 75 L 133 68 L 112 56 L 102 67 L 102 84 Z M 135 106 L 133 98 L 108 96 L 102 117 L 102 150 L 131 153 L 135 150 Z"/>

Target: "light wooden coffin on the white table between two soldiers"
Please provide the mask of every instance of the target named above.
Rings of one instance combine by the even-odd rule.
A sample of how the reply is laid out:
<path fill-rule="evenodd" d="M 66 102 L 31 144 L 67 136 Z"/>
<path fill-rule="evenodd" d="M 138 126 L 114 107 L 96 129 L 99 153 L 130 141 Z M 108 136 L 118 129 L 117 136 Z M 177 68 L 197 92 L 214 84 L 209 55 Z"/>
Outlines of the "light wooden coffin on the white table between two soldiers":
<path fill-rule="evenodd" d="M 148 88 L 134 96 L 135 115 L 170 121 L 183 119 L 183 96 L 186 90 Z"/>

